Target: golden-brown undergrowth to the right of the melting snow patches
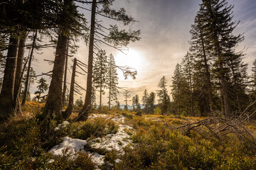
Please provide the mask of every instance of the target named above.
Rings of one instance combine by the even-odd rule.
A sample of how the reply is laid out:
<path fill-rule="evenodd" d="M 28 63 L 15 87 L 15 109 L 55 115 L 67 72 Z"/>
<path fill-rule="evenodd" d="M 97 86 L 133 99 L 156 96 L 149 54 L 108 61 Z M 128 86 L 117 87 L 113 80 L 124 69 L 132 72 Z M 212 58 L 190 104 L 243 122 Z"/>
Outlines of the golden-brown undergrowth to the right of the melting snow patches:
<path fill-rule="evenodd" d="M 225 135 L 220 141 L 204 130 L 185 135 L 166 128 L 168 121 L 176 124 L 168 119 L 131 121 L 137 129 L 133 145 L 114 169 L 256 169 L 255 145 L 246 138 Z"/>

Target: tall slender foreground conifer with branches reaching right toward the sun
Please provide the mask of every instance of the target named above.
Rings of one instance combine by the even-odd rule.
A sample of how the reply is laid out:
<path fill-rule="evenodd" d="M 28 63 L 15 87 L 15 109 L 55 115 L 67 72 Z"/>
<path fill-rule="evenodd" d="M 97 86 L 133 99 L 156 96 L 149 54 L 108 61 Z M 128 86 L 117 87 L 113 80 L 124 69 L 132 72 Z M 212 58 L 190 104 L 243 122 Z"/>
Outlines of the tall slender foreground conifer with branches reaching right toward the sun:
<path fill-rule="evenodd" d="M 126 14 L 124 8 L 120 8 L 119 11 L 112 8 L 111 1 L 97 1 L 92 0 L 91 8 L 91 25 L 90 25 L 90 40 L 89 40 L 89 54 L 88 54 L 88 70 L 87 70 L 87 89 L 85 95 L 85 104 L 82 107 L 82 111 L 79 113 L 78 120 L 87 120 L 90 107 L 92 105 L 91 93 L 92 93 L 92 63 L 94 49 L 99 50 L 99 45 L 97 43 L 103 43 L 115 49 L 122 50 L 122 47 L 127 46 L 129 42 L 135 42 L 139 40 L 140 30 L 119 30 L 117 25 L 110 25 L 110 28 L 102 26 L 97 23 L 97 15 L 110 18 L 114 21 L 121 21 L 124 26 L 129 25 L 134 19 Z M 103 31 L 102 31 L 103 30 Z M 106 33 L 106 30 L 109 31 Z M 95 36 L 97 35 L 97 37 Z M 124 74 L 130 74 L 130 72 L 124 72 Z M 132 74 L 134 77 L 134 74 Z"/>

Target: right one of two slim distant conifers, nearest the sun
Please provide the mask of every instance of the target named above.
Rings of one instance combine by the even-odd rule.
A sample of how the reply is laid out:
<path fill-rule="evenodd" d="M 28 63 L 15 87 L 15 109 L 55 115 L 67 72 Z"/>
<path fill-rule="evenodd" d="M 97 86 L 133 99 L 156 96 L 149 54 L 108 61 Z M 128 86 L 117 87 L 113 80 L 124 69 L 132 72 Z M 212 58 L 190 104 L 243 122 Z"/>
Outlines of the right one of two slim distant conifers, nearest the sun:
<path fill-rule="evenodd" d="M 107 58 L 106 84 L 107 84 L 107 89 L 109 89 L 108 104 L 110 109 L 111 101 L 117 101 L 117 94 L 118 94 L 117 67 L 115 66 L 114 56 L 112 54 Z"/>

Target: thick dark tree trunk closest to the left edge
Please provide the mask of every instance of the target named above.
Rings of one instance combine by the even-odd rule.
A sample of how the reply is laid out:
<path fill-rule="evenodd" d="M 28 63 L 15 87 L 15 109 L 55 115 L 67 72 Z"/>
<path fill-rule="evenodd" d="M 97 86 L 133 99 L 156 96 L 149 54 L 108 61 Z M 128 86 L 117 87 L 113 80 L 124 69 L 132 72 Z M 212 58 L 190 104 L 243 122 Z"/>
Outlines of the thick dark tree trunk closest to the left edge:
<path fill-rule="evenodd" d="M 14 81 L 18 53 L 18 38 L 11 35 L 4 69 L 4 80 L 0 94 L 0 122 L 15 115 Z"/>

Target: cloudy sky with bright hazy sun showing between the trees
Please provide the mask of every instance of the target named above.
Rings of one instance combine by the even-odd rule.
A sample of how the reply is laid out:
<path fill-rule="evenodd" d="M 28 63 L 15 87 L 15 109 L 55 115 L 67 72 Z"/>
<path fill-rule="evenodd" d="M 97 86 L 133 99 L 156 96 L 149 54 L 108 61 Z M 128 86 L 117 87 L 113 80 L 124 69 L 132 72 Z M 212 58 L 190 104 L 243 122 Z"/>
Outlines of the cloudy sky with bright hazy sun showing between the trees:
<path fill-rule="evenodd" d="M 180 63 L 183 56 L 189 49 L 188 41 L 191 36 L 189 30 L 199 9 L 201 0 L 116 0 L 115 8 L 124 7 L 127 13 L 136 21 L 131 28 L 141 30 L 141 40 L 128 45 L 127 55 L 110 47 L 102 46 L 107 50 L 107 54 L 112 53 L 116 63 L 120 66 L 129 65 L 137 69 L 136 79 L 124 79 L 119 72 L 119 86 L 132 91 L 142 98 L 143 91 L 149 93 L 156 92 L 157 85 L 161 77 L 165 76 L 168 81 L 168 91 L 171 93 L 171 77 L 174 74 L 176 64 Z M 248 72 L 252 67 L 252 61 L 256 58 L 256 1 L 255 0 L 228 0 L 228 4 L 234 5 L 234 21 L 240 21 L 234 34 L 243 33 L 245 40 L 240 43 L 238 50 L 244 47 L 244 61 L 249 64 Z M 87 21 L 90 22 L 90 13 L 85 13 Z M 103 20 L 103 19 L 102 19 Z M 112 23 L 110 19 L 104 20 L 105 23 Z M 118 26 L 122 24 L 117 23 Z M 87 63 L 88 47 L 82 40 L 78 42 L 80 46 L 75 57 Z M 42 58 L 53 60 L 53 49 L 44 50 L 43 54 L 38 55 L 38 62 L 34 63 L 37 74 L 48 72 L 52 66 L 48 67 Z M 39 64 L 40 63 L 40 64 Z M 70 64 L 72 62 L 70 61 Z M 42 65 L 45 67 L 42 68 Z M 70 80 L 70 77 L 68 77 Z M 86 87 L 86 77 L 79 77 L 78 83 Z M 50 79 L 48 79 L 50 84 Z M 31 92 L 36 91 L 37 84 L 33 85 Z M 119 102 L 124 103 L 123 91 L 120 91 Z M 75 96 L 79 98 L 80 96 Z M 85 98 L 85 93 L 82 100 Z M 132 98 L 131 98 L 132 99 Z M 103 104 L 107 104 L 107 95 L 103 96 Z M 129 102 L 132 104 L 132 102 Z"/>

